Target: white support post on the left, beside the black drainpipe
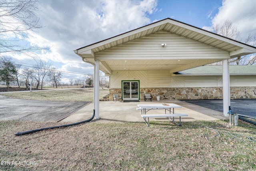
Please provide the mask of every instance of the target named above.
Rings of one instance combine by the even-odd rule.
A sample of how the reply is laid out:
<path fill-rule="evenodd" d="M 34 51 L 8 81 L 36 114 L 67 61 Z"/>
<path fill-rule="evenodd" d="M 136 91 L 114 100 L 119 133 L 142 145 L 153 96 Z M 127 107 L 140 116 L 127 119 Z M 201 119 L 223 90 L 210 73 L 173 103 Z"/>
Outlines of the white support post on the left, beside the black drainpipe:
<path fill-rule="evenodd" d="M 96 119 L 100 119 L 100 61 L 95 60 L 95 75 L 94 75 L 94 105 L 95 105 L 95 117 Z"/>

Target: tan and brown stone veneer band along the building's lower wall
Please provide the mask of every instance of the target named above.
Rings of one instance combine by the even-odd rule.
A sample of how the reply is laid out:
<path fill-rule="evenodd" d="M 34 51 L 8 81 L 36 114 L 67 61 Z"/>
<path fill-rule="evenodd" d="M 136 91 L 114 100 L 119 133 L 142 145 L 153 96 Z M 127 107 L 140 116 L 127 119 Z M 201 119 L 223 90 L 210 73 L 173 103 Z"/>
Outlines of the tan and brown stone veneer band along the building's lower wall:
<path fill-rule="evenodd" d="M 141 88 L 140 100 L 144 100 L 144 93 L 151 93 L 153 100 L 156 96 L 161 99 L 223 99 L 222 87 L 200 87 L 200 88 Z M 113 94 L 122 96 L 122 89 L 110 89 L 110 100 Z M 256 87 L 230 87 L 231 99 L 256 99 Z"/>

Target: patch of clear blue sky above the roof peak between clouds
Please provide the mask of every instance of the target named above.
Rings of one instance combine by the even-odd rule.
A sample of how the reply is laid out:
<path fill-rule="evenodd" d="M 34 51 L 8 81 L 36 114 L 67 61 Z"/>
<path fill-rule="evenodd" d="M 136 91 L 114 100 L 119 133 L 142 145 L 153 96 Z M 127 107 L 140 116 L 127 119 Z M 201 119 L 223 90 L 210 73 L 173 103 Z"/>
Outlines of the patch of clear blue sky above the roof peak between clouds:
<path fill-rule="evenodd" d="M 221 0 L 160 0 L 157 7 L 160 10 L 150 18 L 173 18 L 202 28 L 211 26 L 211 19 L 221 5 Z"/>

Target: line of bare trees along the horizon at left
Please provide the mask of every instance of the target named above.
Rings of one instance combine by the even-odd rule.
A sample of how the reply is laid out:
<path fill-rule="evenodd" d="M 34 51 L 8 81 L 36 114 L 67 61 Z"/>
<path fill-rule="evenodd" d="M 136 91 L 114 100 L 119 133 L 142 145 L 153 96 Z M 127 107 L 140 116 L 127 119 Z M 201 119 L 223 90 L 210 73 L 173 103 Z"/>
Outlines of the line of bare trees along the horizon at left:
<path fill-rule="evenodd" d="M 61 82 L 62 72 L 56 70 L 50 62 L 41 59 L 35 60 L 35 65 L 32 67 L 23 67 L 16 64 L 8 57 L 0 57 L 0 85 L 9 86 L 25 86 L 29 89 L 30 86 L 34 89 L 43 89 L 43 86 L 83 86 L 93 87 L 93 74 L 84 75 L 84 79 L 69 79 L 69 83 Z M 100 86 L 108 87 L 108 79 L 100 73 Z"/>

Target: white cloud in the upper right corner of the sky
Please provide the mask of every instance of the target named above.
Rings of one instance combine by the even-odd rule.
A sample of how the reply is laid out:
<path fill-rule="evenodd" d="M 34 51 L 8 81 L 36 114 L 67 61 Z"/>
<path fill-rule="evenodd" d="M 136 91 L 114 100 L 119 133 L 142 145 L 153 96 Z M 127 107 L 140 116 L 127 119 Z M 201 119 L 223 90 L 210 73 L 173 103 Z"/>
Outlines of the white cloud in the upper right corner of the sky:
<path fill-rule="evenodd" d="M 212 19 L 212 24 L 222 24 L 231 20 L 243 40 L 248 34 L 256 36 L 256 1 L 255 0 L 223 0 L 219 12 Z"/>

